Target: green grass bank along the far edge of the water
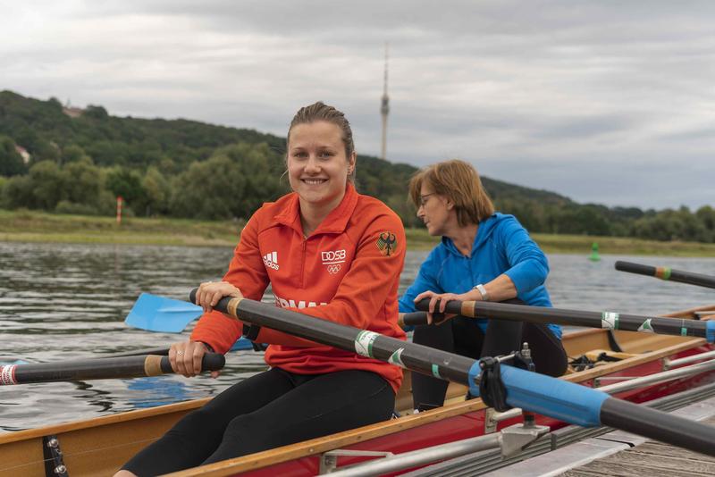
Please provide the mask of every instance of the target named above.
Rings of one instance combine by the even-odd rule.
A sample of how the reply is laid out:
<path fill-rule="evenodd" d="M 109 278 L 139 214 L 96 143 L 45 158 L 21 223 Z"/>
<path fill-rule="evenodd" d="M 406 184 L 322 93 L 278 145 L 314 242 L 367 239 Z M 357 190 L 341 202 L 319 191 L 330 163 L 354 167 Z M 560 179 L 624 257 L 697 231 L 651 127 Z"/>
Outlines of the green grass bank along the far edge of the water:
<path fill-rule="evenodd" d="M 136 217 L 117 224 L 114 217 L 0 210 L 0 241 L 233 247 L 243 224 Z M 439 241 L 423 229 L 409 229 L 407 236 L 410 250 L 428 250 Z M 601 254 L 715 256 L 715 244 L 697 242 L 538 233 L 533 237 L 546 253 L 588 255 L 597 242 Z"/>

